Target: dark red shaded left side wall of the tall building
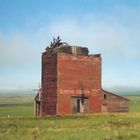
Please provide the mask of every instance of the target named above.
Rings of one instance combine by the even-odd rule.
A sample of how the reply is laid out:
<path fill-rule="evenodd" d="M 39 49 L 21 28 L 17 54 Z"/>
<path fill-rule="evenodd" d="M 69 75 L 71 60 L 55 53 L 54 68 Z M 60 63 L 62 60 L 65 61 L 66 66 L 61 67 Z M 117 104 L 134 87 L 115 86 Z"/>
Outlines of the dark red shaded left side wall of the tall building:
<path fill-rule="evenodd" d="M 56 114 L 57 55 L 42 54 L 41 116 Z"/>

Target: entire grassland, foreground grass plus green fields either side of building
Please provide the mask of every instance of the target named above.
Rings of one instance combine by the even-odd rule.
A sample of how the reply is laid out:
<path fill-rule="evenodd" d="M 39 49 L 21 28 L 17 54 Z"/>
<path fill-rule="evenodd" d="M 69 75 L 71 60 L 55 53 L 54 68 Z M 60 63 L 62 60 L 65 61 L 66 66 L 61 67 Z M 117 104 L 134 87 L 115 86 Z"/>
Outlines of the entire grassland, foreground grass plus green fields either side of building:
<path fill-rule="evenodd" d="M 140 96 L 127 97 L 129 113 L 46 118 L 33 116 L 33 98 L 2 98 L 0 140 L 140 140 Z"/>

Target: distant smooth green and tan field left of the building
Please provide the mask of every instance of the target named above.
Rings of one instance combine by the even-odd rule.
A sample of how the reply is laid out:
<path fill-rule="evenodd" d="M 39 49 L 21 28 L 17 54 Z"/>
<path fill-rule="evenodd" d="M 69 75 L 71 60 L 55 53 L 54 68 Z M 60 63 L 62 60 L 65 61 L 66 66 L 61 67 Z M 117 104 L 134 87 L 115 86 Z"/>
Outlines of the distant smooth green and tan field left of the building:
<path fill-rule="evenodd" d="M 0 97 L 0 117 L 33 116 L 32 96 Z"/>

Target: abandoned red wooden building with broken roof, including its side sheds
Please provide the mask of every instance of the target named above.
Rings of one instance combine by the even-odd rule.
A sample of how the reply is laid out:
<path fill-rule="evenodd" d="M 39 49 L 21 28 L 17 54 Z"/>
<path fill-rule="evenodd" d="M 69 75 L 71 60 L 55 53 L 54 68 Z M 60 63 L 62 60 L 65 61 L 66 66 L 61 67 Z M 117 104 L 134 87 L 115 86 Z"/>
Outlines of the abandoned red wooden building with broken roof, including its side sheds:
<path fill-rule="evenodd" d="M 46 48 L 41 88 L 35 97 L 36 116 L 111 112 L 108 105 L 112 100 L 108 94 L 104 98 L 101 85 L 102 58 L 88 53 L 87 48 L 68 45 L 59 37 Z M 128 111 L 129 100 L 112 95 L 126 105 L 120 110 L 114 107 L 112 112 Z"/>

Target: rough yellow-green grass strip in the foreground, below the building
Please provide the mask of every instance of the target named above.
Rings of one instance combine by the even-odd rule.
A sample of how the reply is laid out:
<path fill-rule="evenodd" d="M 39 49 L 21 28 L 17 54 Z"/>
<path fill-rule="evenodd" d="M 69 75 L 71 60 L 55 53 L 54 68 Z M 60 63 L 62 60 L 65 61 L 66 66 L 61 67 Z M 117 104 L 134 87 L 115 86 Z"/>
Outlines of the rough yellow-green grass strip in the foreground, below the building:
<path fill-rule="evenodd" d="M 140 113 L 0 118 L 1 140 L 139 140 Z"/>

